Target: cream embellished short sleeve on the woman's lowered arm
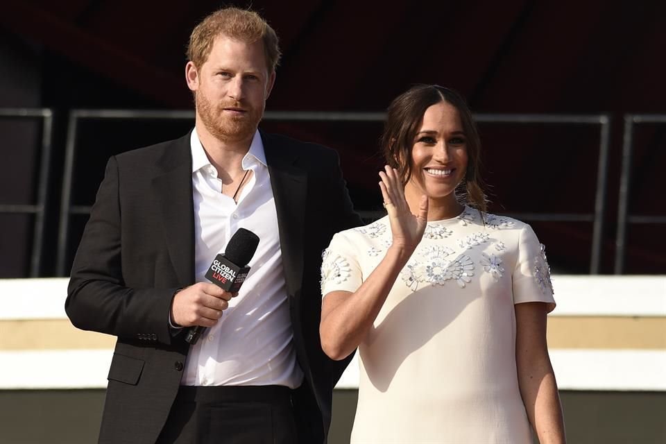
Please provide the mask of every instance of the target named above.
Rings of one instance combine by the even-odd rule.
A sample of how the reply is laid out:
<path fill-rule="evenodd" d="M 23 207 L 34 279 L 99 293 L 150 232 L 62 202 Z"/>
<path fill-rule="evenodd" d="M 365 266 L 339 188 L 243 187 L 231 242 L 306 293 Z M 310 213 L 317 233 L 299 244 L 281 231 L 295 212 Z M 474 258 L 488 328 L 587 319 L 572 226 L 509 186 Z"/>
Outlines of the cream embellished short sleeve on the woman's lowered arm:
<path fill-rule="evenodd" d="M 555 308 L 545 246 L 529 225 L 520 231 L 518 260 L 513 270 L 513 303 L 522 302 L 546 302 L 548 311 Z"/>

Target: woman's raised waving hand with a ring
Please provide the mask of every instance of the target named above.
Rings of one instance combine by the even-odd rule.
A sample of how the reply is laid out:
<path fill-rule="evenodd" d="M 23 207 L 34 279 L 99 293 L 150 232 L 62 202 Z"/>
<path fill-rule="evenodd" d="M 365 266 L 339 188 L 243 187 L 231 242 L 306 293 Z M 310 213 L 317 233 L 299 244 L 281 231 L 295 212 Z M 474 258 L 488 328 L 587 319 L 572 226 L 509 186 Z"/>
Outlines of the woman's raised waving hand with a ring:
<path fill-rule="evenodd" d="M 404 198 L 404 187 L 398 170 L 386 165 L 384 171 L 379 172 L 379 177 L 382 178 L 379 188 L 382 189 L 384 207 L 391 223 L 393 245 L 413 251 L 421 241 L 427 225 L 428 198 L 421 196 L 418 214 L 412 214 Z"/>

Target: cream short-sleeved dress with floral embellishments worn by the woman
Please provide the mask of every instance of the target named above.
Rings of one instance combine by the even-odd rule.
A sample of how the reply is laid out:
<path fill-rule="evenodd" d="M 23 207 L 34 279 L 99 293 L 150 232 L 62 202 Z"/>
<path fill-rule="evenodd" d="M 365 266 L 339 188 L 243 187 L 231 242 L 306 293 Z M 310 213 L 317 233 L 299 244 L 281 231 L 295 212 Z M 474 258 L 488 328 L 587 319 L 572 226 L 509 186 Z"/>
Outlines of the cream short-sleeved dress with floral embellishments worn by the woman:
<path fill-rule="evenodd" d="M 356 291 L 391 245 L 388 216 L 340 232 L 322 294 Z M 429 221 L 359 345 L 352 443 L 531 444 L 515 364 L 520 302 L 555 307 L 529 225 L 466 207 Z"/>

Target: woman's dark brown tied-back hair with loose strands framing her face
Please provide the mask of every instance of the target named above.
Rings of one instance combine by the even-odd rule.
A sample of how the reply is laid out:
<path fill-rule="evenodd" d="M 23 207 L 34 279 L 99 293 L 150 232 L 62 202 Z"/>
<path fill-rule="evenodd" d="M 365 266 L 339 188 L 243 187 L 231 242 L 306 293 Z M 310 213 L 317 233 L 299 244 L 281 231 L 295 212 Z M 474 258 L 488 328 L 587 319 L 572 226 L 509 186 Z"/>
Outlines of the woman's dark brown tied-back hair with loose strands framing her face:
<path fill-rule="evenodd" d="M 415 85 L 388 105 L 382 150 L 386 163 L 398 169 L 402 185 L 407 185 L 412 174 L 411 151 L 416 133 L 423 121 L 423 114 L 432 105 L 446 102 L 452 105 L 460 116 L 463 132 L 467 139 L 467 171 L 465 178 L 456 189 L 456 197 L 481 212 L 487 210 L 484 181 L 479 175 L 481 167 L 481 139 L 472 117 L 472 112 L 463 97 L 453 89 L 439 85 Z"/>

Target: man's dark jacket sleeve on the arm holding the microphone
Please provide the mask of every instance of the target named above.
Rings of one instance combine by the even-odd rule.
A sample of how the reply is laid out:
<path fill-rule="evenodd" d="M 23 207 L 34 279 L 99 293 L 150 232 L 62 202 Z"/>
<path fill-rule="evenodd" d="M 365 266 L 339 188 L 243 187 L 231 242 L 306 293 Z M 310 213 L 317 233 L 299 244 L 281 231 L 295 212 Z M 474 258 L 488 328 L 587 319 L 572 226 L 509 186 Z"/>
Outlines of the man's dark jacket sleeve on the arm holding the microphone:
<path fill-rule="evenodd" d="M 111 157 L 71 268 L 65 311 L 82 330 L 168 344 L 169 309 L 177 289 L 126 285 L 119 182 L 118 162 Z"/>

